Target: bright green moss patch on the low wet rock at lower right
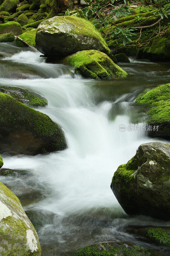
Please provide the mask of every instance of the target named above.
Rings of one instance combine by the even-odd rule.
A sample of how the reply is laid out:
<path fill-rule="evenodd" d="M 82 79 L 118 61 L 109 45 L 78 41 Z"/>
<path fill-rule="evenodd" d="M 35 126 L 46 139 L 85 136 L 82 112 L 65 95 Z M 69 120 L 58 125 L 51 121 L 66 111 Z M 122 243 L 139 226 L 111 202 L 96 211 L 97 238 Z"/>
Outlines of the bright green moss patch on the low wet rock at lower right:
<path fill-rule="evenodd" d="M 162 228 L 149 228 L 147 235 L 154 242 L 170 245 L 170 232 Z"/>

